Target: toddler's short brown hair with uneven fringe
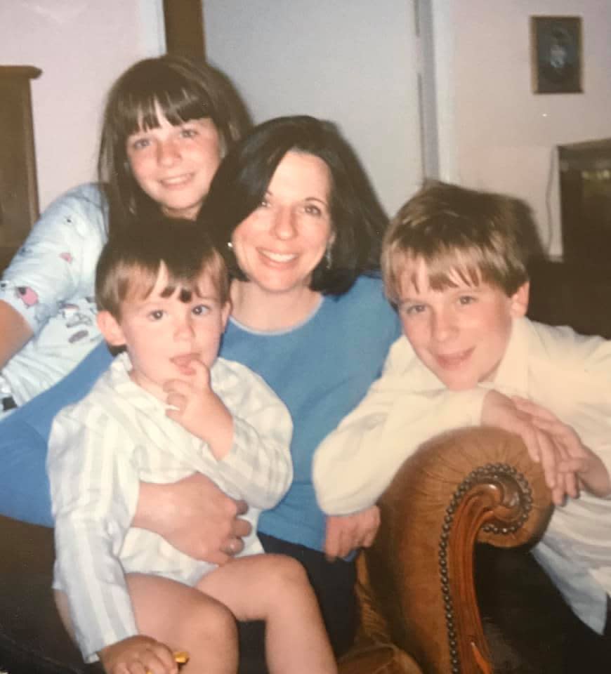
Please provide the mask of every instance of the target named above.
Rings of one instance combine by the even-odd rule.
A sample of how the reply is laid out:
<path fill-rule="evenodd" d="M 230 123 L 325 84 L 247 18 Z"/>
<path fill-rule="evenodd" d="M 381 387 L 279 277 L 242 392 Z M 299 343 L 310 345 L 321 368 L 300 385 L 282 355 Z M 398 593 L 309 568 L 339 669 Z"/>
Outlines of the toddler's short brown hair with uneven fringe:
<path fill-rule="evenodd" d="M 189 302 L 199 296 L 199 282 L 208 274 L 224 304 L 229 300 L 229 277 L 225 261 L 212 245 L 204 228 L 191 220 L 158 216 L 154 224 L 136 223 L 113 234 L 107 241 L 96 269 L 98 310 L 119 320 L 121 303 L 129 296 L 150 295 L 162 265 L 168 271 L 163 297 L 180 288 L 179 299 Z"/>

